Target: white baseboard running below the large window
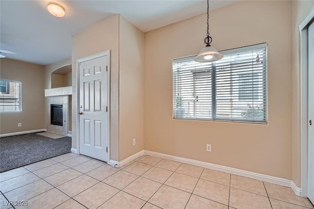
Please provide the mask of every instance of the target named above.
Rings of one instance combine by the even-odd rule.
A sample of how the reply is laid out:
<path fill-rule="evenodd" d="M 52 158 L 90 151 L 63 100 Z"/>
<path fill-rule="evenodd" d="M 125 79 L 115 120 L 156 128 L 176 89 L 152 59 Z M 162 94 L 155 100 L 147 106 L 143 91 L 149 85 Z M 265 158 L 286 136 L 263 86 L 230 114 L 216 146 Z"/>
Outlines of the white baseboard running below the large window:
<path fill-rule="evenodd" d="M 231 174 L 235 174 L 235 175 L 239 175 L 239 176 L 257 179 L 260 181 L 265 181 L 265 182 L 269 182 L 269 183 L 273 183 L 273 184 L 277 184 L 277 185 L 288 186 L 288 187 L 291 187 L 292 190 L 297 195 L 300 196 L 301 189 L 298 188 L 291 180 L 288 180 L 288 179 L 278 178 L 278 177 L 274 177 L 274 176 L 268 176 L 265 174 L 254 173 L 251 171 L 240 170 L 237 168 L 227 167 L 227 166 L 223 166 L 223 165 L 217 165 L 217 164 L 213 164 L 213 163 L 195 161 L 195 160 L 191 160 L 191 159 L 187 159 L 187 158 L 181 158 L 181 157 L 161 154 L 161 153 L 147 151 L 147 150 L 144 151 L 144 154 L 159 157 L 159 158 L 164 158 L 164 159 L 168 159 L 168 160 L 172 160 L 172 161 L 177 161 L 180 163 L 187 163 L 187 164 L 197 165 L 197 166 L 201 166 L 201 167 L 205 167 L 205 168 L 209 168 L 209 169 L 213 169 L 213 170 L 219 170 L 219 171 L 223 171 L 226 173 L 231 173 Z M 293 183 L 293 185 L 292 185 L 292 183 Z"/>

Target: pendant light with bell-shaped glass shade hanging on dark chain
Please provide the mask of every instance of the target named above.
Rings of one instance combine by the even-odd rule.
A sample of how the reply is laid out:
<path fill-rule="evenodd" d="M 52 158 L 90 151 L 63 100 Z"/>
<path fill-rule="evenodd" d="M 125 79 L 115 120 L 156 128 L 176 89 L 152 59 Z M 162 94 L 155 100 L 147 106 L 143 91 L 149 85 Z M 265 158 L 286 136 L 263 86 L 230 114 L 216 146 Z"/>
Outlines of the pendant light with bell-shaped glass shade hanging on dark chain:
<path fill-rule="evenodd" d="M 220 54 L 217 49 L 210 46 L 212 39 L 209 36 L 209 0 L 207 0 L 207 36 L 204 39 L 206 44 L 205 48 L 203 48 L 200 53 L 194 58 L 196 62 L 213 62 L 216 60 L 220 60 L 224 55 Z"/>

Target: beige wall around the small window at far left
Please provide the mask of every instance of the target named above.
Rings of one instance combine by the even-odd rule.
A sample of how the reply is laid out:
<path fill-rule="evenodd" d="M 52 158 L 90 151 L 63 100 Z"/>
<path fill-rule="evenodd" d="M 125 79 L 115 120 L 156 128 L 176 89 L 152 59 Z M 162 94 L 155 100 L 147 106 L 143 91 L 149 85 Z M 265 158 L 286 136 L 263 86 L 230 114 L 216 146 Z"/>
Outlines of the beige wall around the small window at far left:
<path fill-rule="evenodd" d="M 1 113 L 0 134 L 45 129 L 44 67 L 1 58 L 0 69 L 1 78 L 22 82 L 22 113 Z"/>

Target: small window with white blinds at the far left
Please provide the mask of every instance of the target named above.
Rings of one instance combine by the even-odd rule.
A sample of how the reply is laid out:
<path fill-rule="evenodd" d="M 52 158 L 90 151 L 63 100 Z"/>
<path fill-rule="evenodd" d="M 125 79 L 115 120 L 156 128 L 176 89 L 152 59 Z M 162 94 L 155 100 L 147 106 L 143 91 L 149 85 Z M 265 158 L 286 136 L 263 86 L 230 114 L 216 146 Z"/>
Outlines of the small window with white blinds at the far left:
<path fill-rule="evenodd" d="M 21 81 L 0 79 L 0 112 L 22 112 Z"/>

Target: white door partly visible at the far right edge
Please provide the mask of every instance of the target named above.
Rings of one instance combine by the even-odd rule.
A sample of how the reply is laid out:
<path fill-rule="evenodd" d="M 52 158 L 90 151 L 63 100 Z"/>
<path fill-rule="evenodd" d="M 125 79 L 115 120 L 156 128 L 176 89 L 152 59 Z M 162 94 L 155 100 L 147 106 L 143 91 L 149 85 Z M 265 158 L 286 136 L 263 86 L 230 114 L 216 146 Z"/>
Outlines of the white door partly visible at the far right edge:
<path fill-rule="evenodd" d="M 308 197 L 314 204 L 314 23 L 309 27 Z"/>

